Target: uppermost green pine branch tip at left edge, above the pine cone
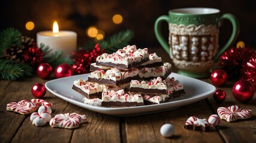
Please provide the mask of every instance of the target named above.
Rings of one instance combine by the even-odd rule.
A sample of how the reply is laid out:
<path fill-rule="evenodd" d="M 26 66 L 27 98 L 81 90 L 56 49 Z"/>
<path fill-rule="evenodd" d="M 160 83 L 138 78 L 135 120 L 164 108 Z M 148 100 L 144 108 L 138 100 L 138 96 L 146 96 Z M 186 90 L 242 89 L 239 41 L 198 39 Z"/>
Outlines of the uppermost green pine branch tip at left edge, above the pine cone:
<path fill-rule="evenodd" d="M 11 45 L 21 46 L 21 36 L 22 34 L 14 28 L 2 30 L 0 33 L 0 57 L 2 57 L 2 52 L 10 48 Z"/>

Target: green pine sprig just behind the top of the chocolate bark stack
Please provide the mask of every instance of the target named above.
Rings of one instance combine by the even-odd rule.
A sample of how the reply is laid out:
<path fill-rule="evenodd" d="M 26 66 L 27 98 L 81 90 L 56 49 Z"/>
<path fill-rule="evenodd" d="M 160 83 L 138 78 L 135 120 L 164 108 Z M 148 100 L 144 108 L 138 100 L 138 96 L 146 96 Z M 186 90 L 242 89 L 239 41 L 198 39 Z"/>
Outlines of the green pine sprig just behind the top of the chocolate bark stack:
<path fill-rule="evenodd" d="M 116 33 L 101 41 L 91 41 L 85 44 L 82 48 L 90 49 L 94 48 L 96 43 L 100 44 L 101 49 L 106 49 L 107 52 L 115 52 L 117 49 L 123 48 L 128 45 L 128 42 L 134 37 L 134 33 L 131 30 L 125 30 Z"/>

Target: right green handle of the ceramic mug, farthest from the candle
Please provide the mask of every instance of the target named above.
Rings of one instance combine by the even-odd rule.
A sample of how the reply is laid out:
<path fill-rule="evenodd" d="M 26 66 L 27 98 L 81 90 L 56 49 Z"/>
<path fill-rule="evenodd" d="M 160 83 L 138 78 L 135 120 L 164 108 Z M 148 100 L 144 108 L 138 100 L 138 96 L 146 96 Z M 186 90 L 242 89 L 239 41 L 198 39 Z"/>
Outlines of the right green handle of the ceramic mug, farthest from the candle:
<path fill-rule="evenodd" d="M 220 24 L 222 23 L 223 20 L 229 20 L 232 24 L 233 30 L 230 36 L 230 39 L 228 39 L 228 42 L 225 43 L 225 45 L 219 49 L 219 51 L 216 53 L 215 57 L 214 57 L 214 61 L 218 61 L 219 57 L 221 56 L 221 54 L 231 45 L 234 43 L 234 41 L 236 41 L 237 36 L 239 35 L 240 32 L 240 27 L 239 27 L 239 21 L 237 20 L 237 18 L 233 15 L 233 14 L 223 14 L 221 15 L 221 17 L 219 18 L 219 22 Z"/>

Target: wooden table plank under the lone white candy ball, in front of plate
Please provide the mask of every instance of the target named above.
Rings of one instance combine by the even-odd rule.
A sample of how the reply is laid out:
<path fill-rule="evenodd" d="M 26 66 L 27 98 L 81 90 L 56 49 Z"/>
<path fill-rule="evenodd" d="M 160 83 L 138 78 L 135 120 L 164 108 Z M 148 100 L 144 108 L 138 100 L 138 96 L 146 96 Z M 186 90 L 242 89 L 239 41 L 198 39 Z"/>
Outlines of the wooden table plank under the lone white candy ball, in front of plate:
<path fill-rule="evenodd" d="M 207 119 L 211 114 L 212 111 L 206 102 L 199 101 L 176 110 L 127 117 L 125 118 L 127 142 L 222 142 L 221 136 L 215 128 L 211 128 L 209 132 L 183 128 L 188 117 L 196 116 Z M 160 128 L 165 123 L 171 123 L 176 128 L 174 136 L 171 138 L 161 136 Z"/>

